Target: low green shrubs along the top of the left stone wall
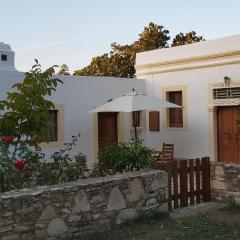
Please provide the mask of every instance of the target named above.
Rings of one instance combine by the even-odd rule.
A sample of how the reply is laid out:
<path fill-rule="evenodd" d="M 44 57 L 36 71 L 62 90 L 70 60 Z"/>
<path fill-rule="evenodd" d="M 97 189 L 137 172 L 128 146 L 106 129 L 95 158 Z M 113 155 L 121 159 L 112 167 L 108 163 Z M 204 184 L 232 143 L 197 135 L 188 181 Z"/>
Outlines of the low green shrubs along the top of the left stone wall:
<path fill-rule="evenodd" d="M 20 189 L 25 186 L 75 181 L 85 177 L 89 172 L 86 163 L 87 157 L 82 153 L 74 156 L 70 155 L 72 148 L 78 143 L 79 139 L 80 134 L 73 136 L 72 142 L 65 143 L 64 149 L 53 153 L 50 162 L 45 160 L 45 155 L 41 150 L 33 151 L 28 146 L 23 146 L 18 154 L 19 159 L 25 161 L 23 169 L 17 169 L 15 162 L 6 157 L 6 161 L 3 161 L 3 163 L 6 163 L 4 169 L 0 171 L 0 192 Z M 1 144 L 6 143 L 0 142 L 0 148 L 3 149 Z M 7 151 L 9 151 L 9 148 Z M 7 156 L 8 153 L 4 154 Z"/>

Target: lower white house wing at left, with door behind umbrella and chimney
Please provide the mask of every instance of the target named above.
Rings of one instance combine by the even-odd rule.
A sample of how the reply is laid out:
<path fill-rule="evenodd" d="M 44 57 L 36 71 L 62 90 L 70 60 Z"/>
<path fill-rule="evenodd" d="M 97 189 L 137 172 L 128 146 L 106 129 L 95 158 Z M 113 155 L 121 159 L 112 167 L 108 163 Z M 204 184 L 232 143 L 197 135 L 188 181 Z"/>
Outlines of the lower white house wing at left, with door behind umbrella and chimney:
<path fill-rule="evenodd" d="M 14 66 L 14 52 L 7 44 L 0 43 L 0 98 L 3 99 L 13 83 L 20 82 L 24 73 Z M 79 151 L 87 155 L 91 166 L 97 159 L 98 147 L 110 142 L 128 141 L 133 137 L 131 115 L 124 113 L 89 114 L 88 112 L 112 98 L 135 88 L 145 91 L 145 81 L 108 77 L 58 76 L 59 84 L 50 100 L 56 112 L 55 136 L 49 144 L 42 144 L 47 156 L 71 141 L 73 135 L 81 133 L 79 144 L 73 154 Z M 142 138 L 145 136 L 141 135 Z"/>

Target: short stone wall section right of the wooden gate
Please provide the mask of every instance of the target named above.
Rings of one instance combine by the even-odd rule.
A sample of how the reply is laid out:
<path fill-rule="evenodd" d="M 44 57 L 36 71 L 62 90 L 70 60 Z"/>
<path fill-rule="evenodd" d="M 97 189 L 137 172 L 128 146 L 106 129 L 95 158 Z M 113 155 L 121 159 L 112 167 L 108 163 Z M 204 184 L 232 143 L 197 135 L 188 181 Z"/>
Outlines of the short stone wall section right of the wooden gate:
<path fill-rule="evenodd" d="M 240 164 L 212 163 L 213 200 L 240 204 Z"/>

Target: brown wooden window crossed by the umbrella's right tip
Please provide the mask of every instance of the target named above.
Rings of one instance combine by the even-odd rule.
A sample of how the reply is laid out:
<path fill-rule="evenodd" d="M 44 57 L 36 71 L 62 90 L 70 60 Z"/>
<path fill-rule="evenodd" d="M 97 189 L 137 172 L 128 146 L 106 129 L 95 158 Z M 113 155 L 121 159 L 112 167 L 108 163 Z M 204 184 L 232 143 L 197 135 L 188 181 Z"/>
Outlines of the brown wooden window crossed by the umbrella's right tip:
<path fill-rule="evenodd" d="M 182 106 L 182 91 L 173 91 L 167 93 L 168 101 Z M 183 109 L 169 108 L 168 110 L 169 127 L 183 128 Z"/>

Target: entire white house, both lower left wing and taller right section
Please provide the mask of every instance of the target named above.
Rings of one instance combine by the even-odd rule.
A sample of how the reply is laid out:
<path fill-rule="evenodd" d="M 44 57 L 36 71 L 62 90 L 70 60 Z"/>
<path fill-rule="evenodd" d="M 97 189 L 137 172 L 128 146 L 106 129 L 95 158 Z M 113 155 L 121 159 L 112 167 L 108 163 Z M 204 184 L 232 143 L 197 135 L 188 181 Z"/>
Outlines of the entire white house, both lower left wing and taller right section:
<path fill-rule="evenodd" d="M 146 145 L 174 143 L 176 157 L 240 162 L 240 35 L 139 53 L 135 67 L 137 79 L 58 76 L 64 84 L 51 96 L 55 134 L 44 151 L 49 155 L 81 133 L 75 153 L 92 165 L 102 145 L 129 140 L 131 114 L 88 111 L 135 88 L 183 106 L 141 113 L 138 132 Z M 0 43 L 0 98 L 23 77 L 10 46 Z"/>

